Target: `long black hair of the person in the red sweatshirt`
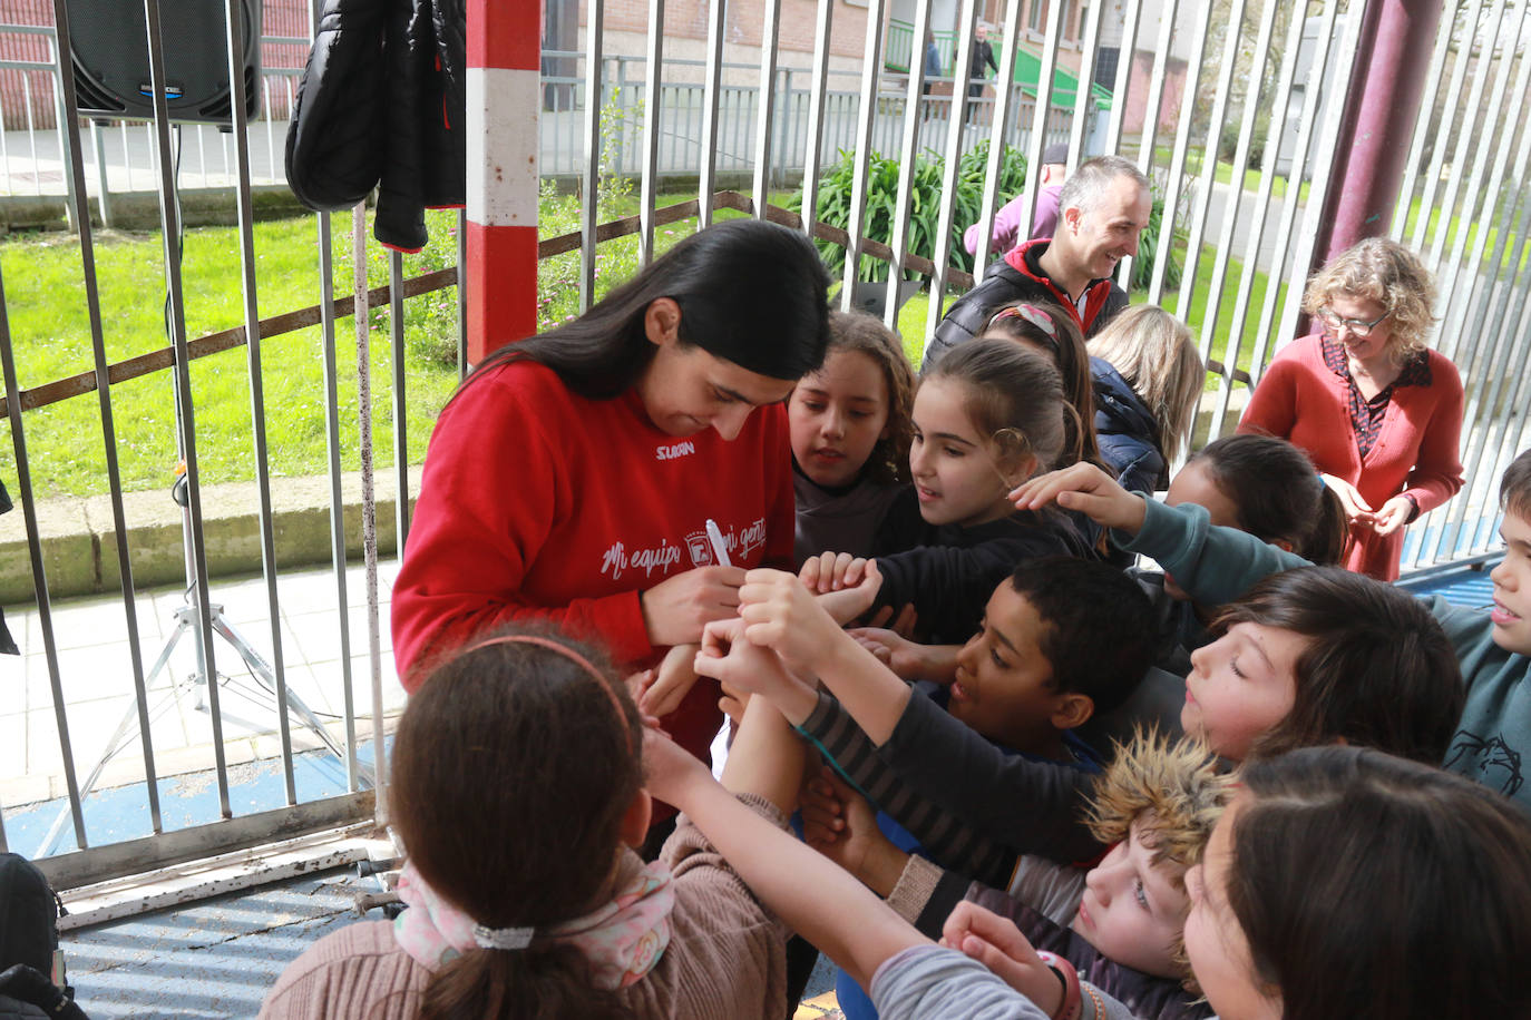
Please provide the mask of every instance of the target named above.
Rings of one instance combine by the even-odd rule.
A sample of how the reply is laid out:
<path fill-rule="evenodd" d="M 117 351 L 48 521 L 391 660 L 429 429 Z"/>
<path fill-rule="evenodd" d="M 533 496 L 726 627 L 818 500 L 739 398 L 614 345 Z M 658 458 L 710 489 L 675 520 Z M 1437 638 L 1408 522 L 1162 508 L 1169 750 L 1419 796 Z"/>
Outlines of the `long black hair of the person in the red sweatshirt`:
<path fill-rule="evenodd" d="M 608 399 L 648 367 L 643 317 L 658 298 L 680 306 L 680 343 L 773 379 L 802 378 L 828 344 L 828 274 L 807 237 L 766 220 L 729 220 L 692 234 L 573 323 L 501 347 L 462 381 L 528 358 L 574 393 Z"/>

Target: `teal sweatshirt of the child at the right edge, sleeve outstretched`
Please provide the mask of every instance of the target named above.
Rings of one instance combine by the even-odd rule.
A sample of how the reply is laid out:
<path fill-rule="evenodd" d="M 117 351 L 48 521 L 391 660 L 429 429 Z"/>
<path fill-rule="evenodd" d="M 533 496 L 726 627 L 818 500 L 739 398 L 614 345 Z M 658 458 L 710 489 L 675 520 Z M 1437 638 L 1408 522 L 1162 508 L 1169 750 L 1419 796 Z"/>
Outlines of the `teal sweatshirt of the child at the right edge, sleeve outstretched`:
<path fill-rule="evenodd" d="M 1113 540 L 1157 560 L 1203 606 L 1231 603 L 1263 577 L 1311 566 L 1254 535 L 1214 528 L 1194 503 L 1147 503 L 1138 537 L 1116 532 Z M 1430 598 L 1428 607 L 1451 639 L 1467 684 L 1467 707 L 1442 765 L 1531 807 L 1522 765 L 1531 757 L 1531 658 L 1494 644 L 1494 625 L 1485 612 L 1451 606 L 1441 596 Z"/>

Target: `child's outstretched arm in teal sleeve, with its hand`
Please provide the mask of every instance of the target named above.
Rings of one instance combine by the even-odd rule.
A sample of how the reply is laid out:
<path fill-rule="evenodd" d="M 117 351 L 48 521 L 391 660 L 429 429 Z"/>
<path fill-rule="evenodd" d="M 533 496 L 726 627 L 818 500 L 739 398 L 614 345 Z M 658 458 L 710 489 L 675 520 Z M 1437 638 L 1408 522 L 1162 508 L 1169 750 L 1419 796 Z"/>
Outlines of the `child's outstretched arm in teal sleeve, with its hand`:
<path fill-rule="evenodd" d="M 1128 492 L 1089 463 L 1041 474 L 1010 497 L 1017 509 L 1056 502 L 1110 528 L 1116 544 L 1156 560 L 1202 606 L 1231 603 L 1263 577 L 1312 566 L 1236 528 L 1213 526 L 1196 503 L 1165 506 Z"/>

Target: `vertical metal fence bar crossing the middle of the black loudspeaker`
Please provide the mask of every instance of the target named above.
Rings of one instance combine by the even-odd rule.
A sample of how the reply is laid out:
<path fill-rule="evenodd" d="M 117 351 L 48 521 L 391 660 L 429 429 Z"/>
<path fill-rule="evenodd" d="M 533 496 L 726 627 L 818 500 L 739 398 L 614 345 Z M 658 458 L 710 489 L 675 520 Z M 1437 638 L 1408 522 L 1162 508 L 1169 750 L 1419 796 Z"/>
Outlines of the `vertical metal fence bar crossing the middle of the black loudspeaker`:
<path fill-rule="evenodd" d="M 181 442 L 187 463 L 187 503 L 191 518 L 188 541 L 194 573 L 199 651 L 205 656 L 207 700 L 213 722 L 213 757 L 217 763 L 217 801 L 224 818 L 233 817 L 228 803 L 228 762 L 224 752 L 224 713 L 219 705 L 217 667 L 213 653 L 213 624 L 207 593 L 207 538 L 202 532 L 202 483 L 196 457 L 196 408 L 191 399 L 191 367 L 187 349 L 185 295 L 181 287 L 181 214 L 176 208 L 175 164 L 170 156 L 170 110 L 165 102 L 164 37 L 159 26 L 159 0 L 144 0 L 149 28 L 149 81 L 153 89 L 155 133 L 159 153 L 159 223 L 165 242 L 165 283 L 170 291 L 170 339 L 175 349 L 176 399 L 181 402 Z"/>

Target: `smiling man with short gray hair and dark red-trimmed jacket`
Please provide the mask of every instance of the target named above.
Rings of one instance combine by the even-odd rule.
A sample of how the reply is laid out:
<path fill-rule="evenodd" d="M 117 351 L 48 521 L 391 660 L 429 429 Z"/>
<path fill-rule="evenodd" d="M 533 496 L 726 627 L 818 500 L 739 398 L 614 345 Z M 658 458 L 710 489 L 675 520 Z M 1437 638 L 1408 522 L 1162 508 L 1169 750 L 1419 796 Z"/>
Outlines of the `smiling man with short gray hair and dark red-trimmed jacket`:
<path fill-rule="evenodd" d="M 1138 254 L 1148 210 L 1148 177 L 1131 161 L 1096 156 L 1081 164 L 1058 194 L 1053 237 L 1018 245 L 991 265 L 935 327 L 925 365 L 980 335 L 995 310 L 1015 301 L 1053 301 L 1085 336 L 1098 333 L 1127 307 L 1127 292 L 1110 277 L 1116 263 Z"/>

